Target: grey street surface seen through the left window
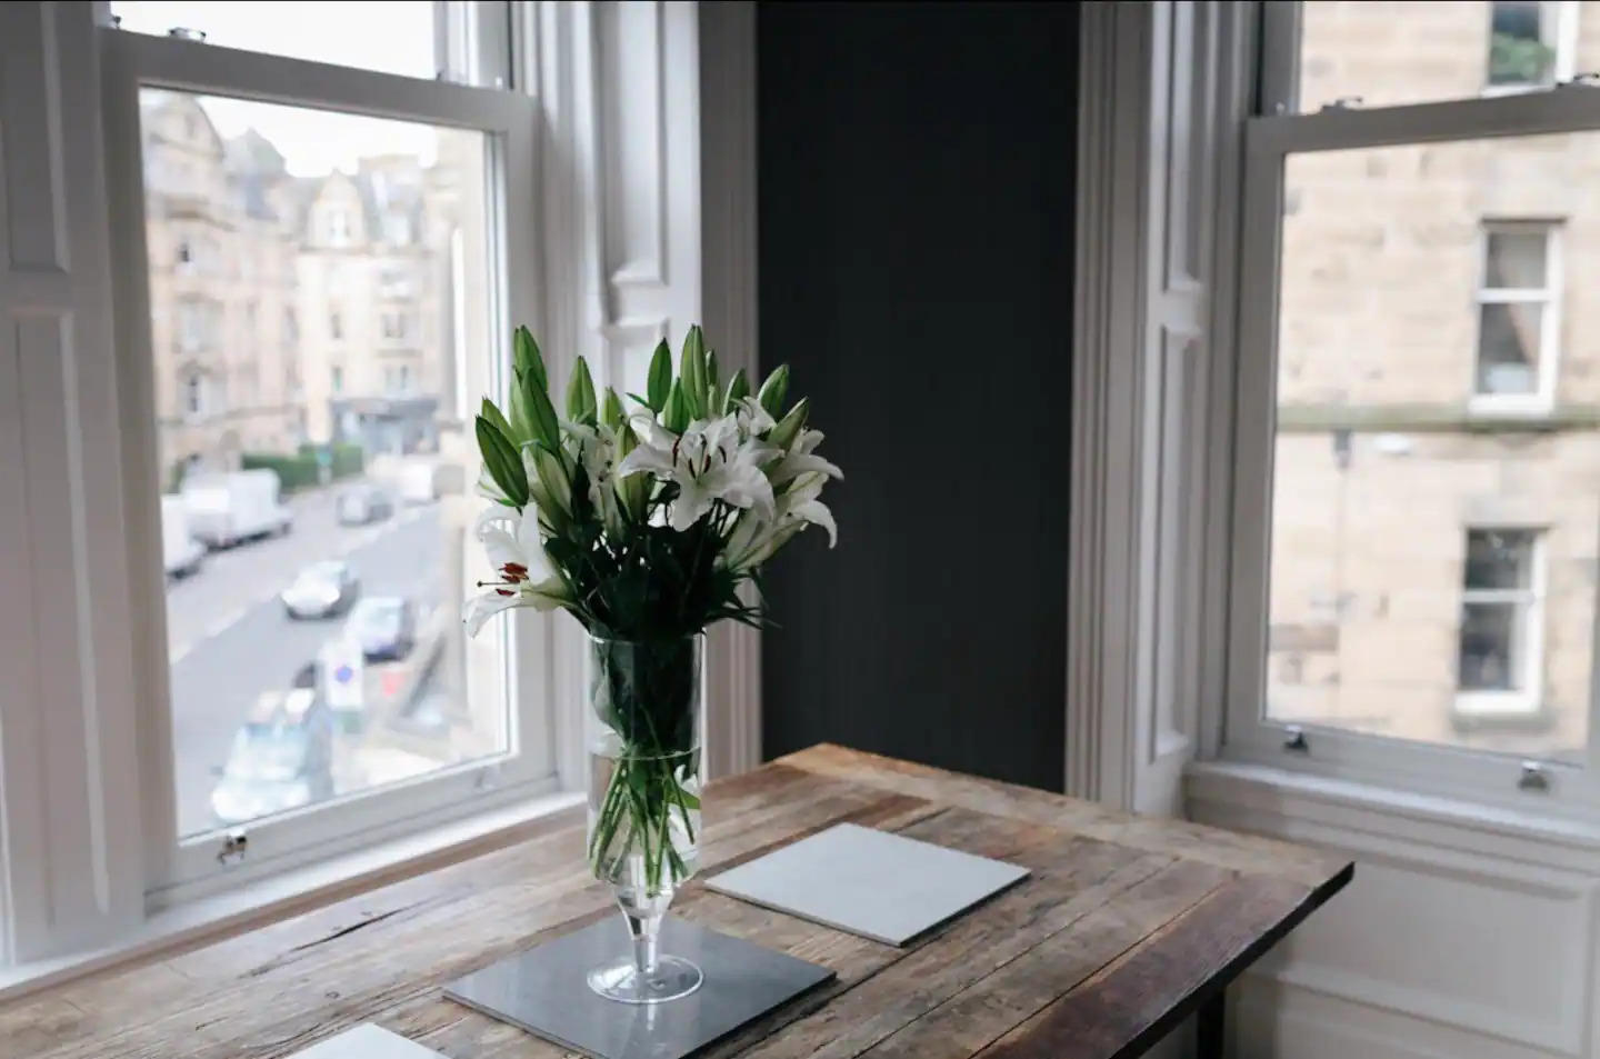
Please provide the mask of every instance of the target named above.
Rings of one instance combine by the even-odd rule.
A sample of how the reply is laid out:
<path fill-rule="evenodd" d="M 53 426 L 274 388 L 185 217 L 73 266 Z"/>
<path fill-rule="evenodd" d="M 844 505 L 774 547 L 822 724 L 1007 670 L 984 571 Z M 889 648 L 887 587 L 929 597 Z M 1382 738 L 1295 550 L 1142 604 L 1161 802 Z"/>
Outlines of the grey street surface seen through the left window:
<path fill-rule="evenodd" d="M 342 617 L 293 621 L 277 593 L 322 558 L 347 558 L 362 595 L 442 598 L 445 541 L 438 509 L 402 507 L 370 526 L 341 526 L 331 491 L 296 498 L 286 537 L 213 552 L 198 573 L 168 584 L 173 761 L 179 833 L 214 825 L 210 793 L 240 723 L 264 691 L 285 691 Z"/>

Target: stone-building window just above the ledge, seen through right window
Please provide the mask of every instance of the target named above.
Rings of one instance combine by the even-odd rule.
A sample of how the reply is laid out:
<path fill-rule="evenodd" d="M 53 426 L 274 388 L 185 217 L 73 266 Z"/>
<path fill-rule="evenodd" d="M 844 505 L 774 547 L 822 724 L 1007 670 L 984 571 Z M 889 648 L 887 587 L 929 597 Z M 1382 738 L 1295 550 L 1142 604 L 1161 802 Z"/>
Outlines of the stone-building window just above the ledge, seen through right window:
<path fill-rule="evenodd" d="M 1526 411 L 1555 395 L 1560 259 L 1550 224 L 1483 226 L 1474 406 Z"/>

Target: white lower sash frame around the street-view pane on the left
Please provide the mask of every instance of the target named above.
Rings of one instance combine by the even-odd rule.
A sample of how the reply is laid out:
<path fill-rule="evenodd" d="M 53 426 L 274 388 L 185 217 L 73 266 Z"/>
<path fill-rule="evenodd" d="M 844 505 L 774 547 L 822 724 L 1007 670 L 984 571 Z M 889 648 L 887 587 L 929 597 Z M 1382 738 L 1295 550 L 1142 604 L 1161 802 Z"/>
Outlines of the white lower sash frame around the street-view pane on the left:
<path fill-rule="evenodd" d="M 510 670 L 506 675 L 509 697 L 517 704 L 512 745 L 520 747 L 520 753 L 469 761 L 373 793 L 253 822 L 245 829 L 250 835 L 248 859 L 232 869 L 219 864 L 219 837 L 214 832 L 189 840 L 176 833 L 165 590 L 162 577 L 155 576 L 160 573 L 160 472 L 155 466 L 150 400 L 154 358 L 138 88 L 154 85 L 240 96 L 491 134 L 494 163 L 490 165 L 486 200 L 491 254 L 501 280 L 491 290 L 491 318 L 494 330 L 507 336 L 496 349 L 509 347 L 512 322 L 538 323 L 538 293 L 542 286 L 533 210 L 539 112 L 528 94 L 517 91 L 406 78 L 114 29 L 102 29 L 101 34 L 114 256 L 125 277 L 117 301 L 118 373 L 125 371 L 128 379 L 120 387 L 120 421 L 125 445 L 134 453 L 131 462 L 144 469 L 144 480 L 131 482 L 126 507 L 133 611 L 141 616 L 136 641 L 139 757 L 142 773 L 154 777 L 146 784 L 142 811 L 147 907 L 165 907 L 453 817 L 525 801 L 557 790 L 563 777 L 566 785 L 573 785 L 576 763 L 557 757 L 554 619 L 518 611 L 501 635 Z M 552 371 L 558 370 L 563 365 L 552 365 Z M 504 390 L 506 374 L 506 365 L 496 358 L 490 366 L 493 389 Z M 522 680 L 517 680 L 518 672 Z"/>

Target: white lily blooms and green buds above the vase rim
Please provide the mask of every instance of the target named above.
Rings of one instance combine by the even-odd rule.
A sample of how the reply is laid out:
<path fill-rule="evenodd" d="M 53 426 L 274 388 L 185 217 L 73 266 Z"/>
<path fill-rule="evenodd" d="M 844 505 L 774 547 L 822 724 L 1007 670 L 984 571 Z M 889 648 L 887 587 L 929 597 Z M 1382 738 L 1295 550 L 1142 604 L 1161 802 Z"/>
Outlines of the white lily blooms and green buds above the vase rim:
<path fill-rule="evenodd" d="M 842 475 L 816 454 L 808 403 L 784 406 L 787 366 L 752 395 L 742 370 L 720 378 L 693 326 L 677 378 L 667 344 L 656 347 L 634 414 L 610 387 L 597 398 L 579 357 L 565 419 L 526 328 L 512 373 L 509 410 L 485 398 L 477 418 L 478 491 L 494 501 L 477 534 L 498 579 L 467 601 L 470 632 L 514 606 L 563 608 L 611 640 L 693 635 L 722 617 L 757 624 L 739 584 L 808 525 L 834 541 L 818 496 Z"/>

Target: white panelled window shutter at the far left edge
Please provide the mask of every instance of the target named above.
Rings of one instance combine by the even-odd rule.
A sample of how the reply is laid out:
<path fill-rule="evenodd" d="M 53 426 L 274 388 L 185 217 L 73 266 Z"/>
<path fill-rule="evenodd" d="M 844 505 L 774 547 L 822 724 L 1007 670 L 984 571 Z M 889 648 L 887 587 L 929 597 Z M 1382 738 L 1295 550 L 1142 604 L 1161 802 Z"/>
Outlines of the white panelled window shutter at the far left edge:
<path fill-rule="evenodd" d="M 139 761 L 93 5 L 0 5 L 0 958 L 134 923 Z"/>

